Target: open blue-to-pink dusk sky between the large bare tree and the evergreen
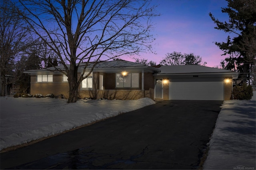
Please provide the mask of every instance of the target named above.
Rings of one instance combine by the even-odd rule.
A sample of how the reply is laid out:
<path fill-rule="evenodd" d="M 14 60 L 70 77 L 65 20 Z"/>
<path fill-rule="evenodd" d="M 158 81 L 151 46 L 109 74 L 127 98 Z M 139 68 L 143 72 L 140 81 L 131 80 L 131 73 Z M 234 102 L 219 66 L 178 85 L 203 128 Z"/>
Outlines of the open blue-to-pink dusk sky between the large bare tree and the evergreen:
<path fill-rule="evenodd" d="M 218 20 L 228 21 L 228 15 L 221 12 L 228 5 L 226 0 L 153 0 L 153 3 L 159 4 L 157 11 L 162 14 L 153 20 L 156 40 L 152 46 L 157 54 L 141 53 L 141 58 L 159 64 L 167 53 L 194 53 L 207 62 L 206 66 L 213 67 L 229 57 L 221 56 L 223 51 L 214 42 L 226 42 L 230 34 L 214 29 L 216 25 L 209 16 L 211 12 Z"/>

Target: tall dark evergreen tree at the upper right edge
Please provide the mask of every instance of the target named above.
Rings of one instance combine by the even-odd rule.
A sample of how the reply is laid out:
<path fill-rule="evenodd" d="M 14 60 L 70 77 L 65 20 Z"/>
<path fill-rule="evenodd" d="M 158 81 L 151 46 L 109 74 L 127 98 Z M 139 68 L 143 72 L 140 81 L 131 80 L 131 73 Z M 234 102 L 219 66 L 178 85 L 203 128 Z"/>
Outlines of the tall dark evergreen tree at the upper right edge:
<path fill-rule="evenodd" d="M 222 12 L 228 14 L 229 21 L 219 21 L 210 13 L 216 23 L 216 29 L 232 33 L 235 37 L 227 37 L 226 42 L 215 44 L 230 55 L 225 59 L 227 69 L 238 70 L 243 74 L 243 82 L 250 79 L 252 66 L 256 63 L 256 1 L 255 0 L 227 0 L 228 7 Z M 249 81 L 250 82 L 250 81 Z"/>

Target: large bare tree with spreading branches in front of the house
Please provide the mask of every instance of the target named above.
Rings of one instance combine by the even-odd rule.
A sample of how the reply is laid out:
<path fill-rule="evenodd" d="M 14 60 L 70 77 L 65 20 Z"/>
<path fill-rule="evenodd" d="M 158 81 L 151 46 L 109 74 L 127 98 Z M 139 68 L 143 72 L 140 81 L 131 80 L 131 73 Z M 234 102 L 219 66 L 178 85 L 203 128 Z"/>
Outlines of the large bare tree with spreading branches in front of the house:
<path fill-rule="evenodd" d="M 19 0 L 33 31 L 54 51 L 68 76 L 68 102 L 98 61 L 151 51 L 150 19 L 158 16 L 145 0 Z M 49 43 L 50 42 L 50 43 Z M 86 63 L 82 64 L 82 62 Z M 94 61 L 93 63 L 91 63 Z M 69 65 L 68 65 L 68 64 Z M 78 67 L 83 71 L 78 77 Z M 90 72 L 85 70 L 90 64 Z"/>

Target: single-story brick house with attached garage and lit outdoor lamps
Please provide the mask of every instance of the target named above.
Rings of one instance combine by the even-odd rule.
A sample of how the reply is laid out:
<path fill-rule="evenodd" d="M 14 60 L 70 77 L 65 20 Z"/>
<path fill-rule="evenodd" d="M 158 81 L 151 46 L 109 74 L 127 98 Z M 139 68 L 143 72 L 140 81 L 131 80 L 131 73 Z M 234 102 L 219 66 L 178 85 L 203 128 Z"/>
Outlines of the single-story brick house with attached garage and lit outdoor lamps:
<path fill-rule="evenodd" d="M 57 66 L 64 70 L 63 66 Z M 67 77 L 54 68 L 27 70 L 31 94 L 68 97 Z M 78 68 L 78 76 L 83 65 Z M 90 64 L 86 72 L 90 71 Z M 80 98 L 229 100 L 237 72 L 198 65 L 153 67 L 124 60 L 99 62 L 78 88 Z"/>

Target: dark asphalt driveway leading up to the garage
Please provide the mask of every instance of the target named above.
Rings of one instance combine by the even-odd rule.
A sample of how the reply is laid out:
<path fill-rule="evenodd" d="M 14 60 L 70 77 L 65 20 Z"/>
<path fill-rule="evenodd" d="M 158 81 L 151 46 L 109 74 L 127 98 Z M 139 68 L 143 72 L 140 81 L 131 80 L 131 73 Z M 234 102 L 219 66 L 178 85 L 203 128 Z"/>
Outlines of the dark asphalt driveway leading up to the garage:
<path fill-rule="evenodd" d="M 198 169 L 222 101 L 159 101 L 0 154 L 0 169 Z"/>

